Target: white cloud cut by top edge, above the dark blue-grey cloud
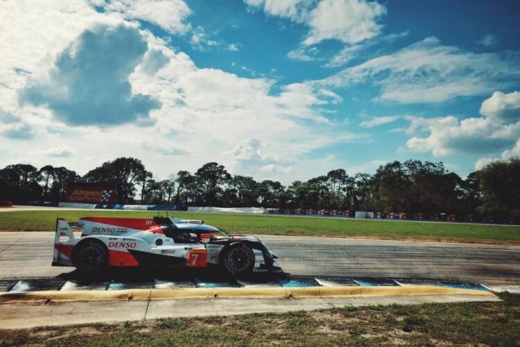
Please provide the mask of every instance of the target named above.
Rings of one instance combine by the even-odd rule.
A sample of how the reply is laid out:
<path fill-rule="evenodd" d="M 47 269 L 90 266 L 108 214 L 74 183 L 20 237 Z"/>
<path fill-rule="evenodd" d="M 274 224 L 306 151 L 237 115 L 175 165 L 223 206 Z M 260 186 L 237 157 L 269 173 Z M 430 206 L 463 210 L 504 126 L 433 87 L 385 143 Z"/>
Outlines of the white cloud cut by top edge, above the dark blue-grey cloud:
<path fill-rule="evenodd" d="M 107 13 L 119 14 L 125 19 L 150 22 L 173 34 L 186 33 L 191 28 L 186 22 L 191 10 L 182 0 L 91 0 L 90 2 L 102 7 Z"/>

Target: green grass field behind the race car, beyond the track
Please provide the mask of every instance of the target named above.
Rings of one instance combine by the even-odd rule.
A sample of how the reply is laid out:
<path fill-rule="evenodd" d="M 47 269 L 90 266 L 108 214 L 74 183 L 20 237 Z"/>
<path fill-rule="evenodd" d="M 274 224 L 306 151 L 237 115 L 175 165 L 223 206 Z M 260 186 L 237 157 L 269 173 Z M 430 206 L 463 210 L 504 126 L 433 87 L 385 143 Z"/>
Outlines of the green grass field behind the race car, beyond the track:
<path fill-rule="evenodd" d="M 252 214 L 175 212 L 170 217 L 203 219 L 205 223 L 238 234 L 297 235 L 416 239 L 489 244 L 520 244 L 520 227 L 458 223 L 372 221 L 324 217 L 285 217 Z M 0 230 L 54 230 L 57 217 L 77 221 L 85 216 L 153 217 L 157 212 L 24 211 L 1 212 Z"/>

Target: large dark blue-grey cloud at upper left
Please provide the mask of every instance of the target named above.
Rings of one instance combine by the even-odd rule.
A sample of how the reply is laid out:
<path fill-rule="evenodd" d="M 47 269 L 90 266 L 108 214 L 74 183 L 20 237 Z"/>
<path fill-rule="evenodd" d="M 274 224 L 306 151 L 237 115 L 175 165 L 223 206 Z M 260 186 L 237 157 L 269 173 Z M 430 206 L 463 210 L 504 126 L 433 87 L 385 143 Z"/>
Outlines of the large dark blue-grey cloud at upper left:
<path fill-rule="evenodd" d="M 149 124 L 148 113 L 161 103 L 132 93 L 128 82 L 147 49 L 137 28 L 96 26 L 60 53 L 49 77 L 27 78 L 19 101 L 45 105 L 57 119 L 76 126 Z"/>

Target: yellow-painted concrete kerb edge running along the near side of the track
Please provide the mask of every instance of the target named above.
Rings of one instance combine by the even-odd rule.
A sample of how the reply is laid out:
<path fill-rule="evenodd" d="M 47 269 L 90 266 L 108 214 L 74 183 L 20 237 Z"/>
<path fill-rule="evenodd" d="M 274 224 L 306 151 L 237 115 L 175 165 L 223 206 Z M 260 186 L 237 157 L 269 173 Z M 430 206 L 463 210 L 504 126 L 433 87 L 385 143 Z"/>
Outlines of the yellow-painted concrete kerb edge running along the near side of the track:
<path fill-rule="evenodd" d="M 492 291 L 447 287 L 300 287 L 300 288 L 187 288 L 125 289 L 94 291 L 0 292 L 0 303 L 36 303 L 65 301 L 134 301 L 173 298 L 333 298 L 349 296 L 423 296 L 423 295 L 495 296 Z"/>

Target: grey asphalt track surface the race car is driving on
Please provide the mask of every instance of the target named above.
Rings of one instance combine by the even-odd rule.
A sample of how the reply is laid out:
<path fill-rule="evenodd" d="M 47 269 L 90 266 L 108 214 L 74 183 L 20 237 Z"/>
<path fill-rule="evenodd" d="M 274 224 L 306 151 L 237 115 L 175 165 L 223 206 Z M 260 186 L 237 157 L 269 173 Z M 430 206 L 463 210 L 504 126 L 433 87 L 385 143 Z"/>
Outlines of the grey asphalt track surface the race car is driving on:
<path fill-rule="evenodd" d="M 0 280 L 67 276 L 51 266 L 54 232 L 0 232 Z M 466 280 L 520 284 L 520 247 L 259 236 L 291 276 Z"/>

